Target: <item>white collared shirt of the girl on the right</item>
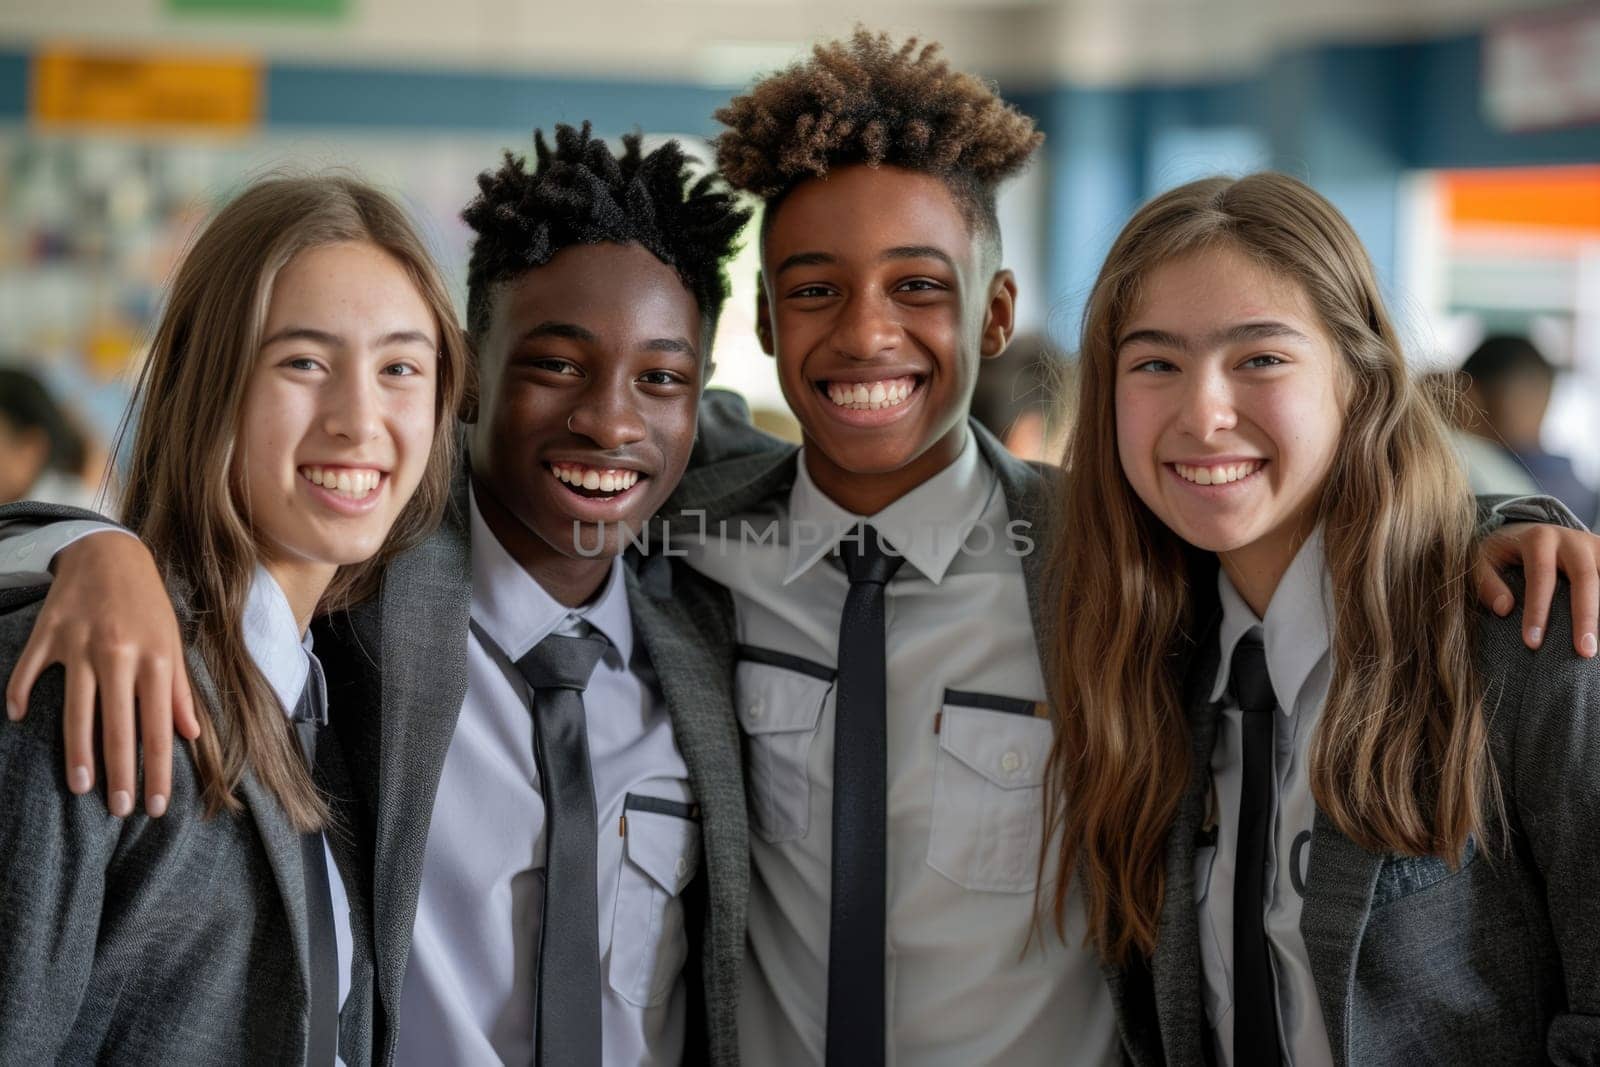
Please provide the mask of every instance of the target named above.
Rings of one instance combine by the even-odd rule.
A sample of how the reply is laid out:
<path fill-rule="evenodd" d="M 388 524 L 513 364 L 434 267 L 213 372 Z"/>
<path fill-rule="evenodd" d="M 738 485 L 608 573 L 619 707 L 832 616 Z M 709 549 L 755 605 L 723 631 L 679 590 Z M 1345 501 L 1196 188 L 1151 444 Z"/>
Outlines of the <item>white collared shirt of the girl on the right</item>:
<path fill-rule="evenodd" d="M 1211 702 L 1226 701 L 1211 752 L 1211 784 L 1218 817 L 1214 848 L 1195 853 L 1195 905 L 1200 912 L 1200 960 L 1206 1021 L 1216 1037 L 1218 1062 L 1234 1062 L 1234 864 L 1238 854 L 1238 797 L 1243 776 L 1242 712 L 1229 693 L 1234 649 L 1248 633 L 1262 638 L 1267 677 L 1278 697 L 1274 717 L 1274 808 L 1267 840 L 1267 945 L 1277 985 L 1278 1033 L 1290 1067 L 1331 1064 L 1322 1001 L 1310 955 L 1299 931 L 1306 877 L 1310 870 L 1317 801 L 1310 795 L 1307 760 L 1312 733 L 1328 701 L 1333 593 L 1323 557 L 1322 528 L 1312 533 L 1278 581 L 1267 617 L 1258 619 L 1221 569 L 1221 662 Z"/>

